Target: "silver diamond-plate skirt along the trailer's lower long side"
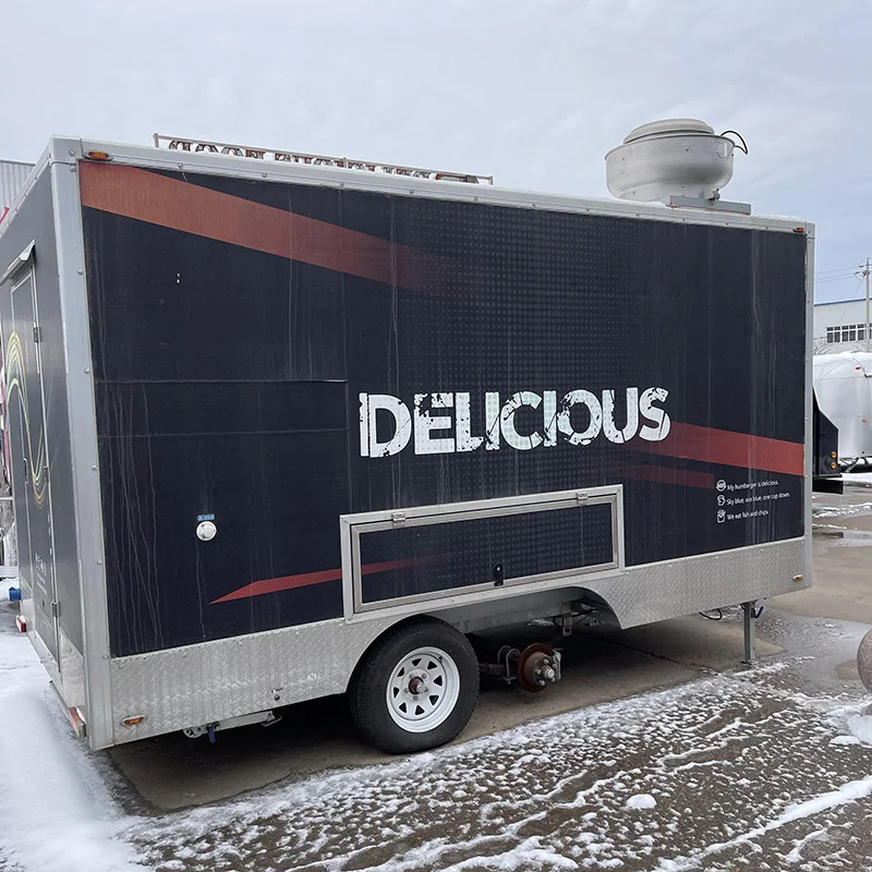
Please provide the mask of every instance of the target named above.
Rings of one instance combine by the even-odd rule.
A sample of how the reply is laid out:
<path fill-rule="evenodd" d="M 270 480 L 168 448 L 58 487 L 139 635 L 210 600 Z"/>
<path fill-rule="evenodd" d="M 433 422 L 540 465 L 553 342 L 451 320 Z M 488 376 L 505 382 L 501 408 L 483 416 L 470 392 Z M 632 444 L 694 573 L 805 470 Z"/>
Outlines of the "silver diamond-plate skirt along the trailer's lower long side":
<path fill-rule="evenodd" d="M 621 627 L 633 627 L 808 588 L 806 569 L 804 540 L 797 538 L 634 567 L 584 586 Z M 502 597 L 492 603 L 495 613 L 505 608 Z M 341 693 L 366 647 L 398 619 L 329 620 L 113 659 L 113 741 Z M 121 724 L 134 715 L 145 719 Z"/>

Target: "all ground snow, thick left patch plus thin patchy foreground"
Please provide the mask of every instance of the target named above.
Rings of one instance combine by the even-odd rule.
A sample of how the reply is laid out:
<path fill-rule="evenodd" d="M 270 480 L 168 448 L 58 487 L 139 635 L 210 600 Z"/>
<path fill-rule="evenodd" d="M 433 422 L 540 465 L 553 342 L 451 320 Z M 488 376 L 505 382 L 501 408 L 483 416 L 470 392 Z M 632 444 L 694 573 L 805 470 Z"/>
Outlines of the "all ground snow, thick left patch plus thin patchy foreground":
<path fill-rule="evenodd" d="M 4 872 L 872 868 L 872 747 L 859 738 L 872 718 L 859 691 L 809 686 L 811 656 L 226 803 L 123 818 L 106 758 L 72 737 L 4 618 Z M 767 633 L 783 620 L 771 616 Z M 827 673 L 865 629 L 816 625 Z"/>

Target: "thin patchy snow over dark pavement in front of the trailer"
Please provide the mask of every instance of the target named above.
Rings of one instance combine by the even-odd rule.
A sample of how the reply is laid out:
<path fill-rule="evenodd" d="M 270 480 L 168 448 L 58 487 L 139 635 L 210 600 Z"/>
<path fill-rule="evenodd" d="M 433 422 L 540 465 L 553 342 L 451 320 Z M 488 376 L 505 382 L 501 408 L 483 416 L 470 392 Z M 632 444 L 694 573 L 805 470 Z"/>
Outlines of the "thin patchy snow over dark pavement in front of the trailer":
<path fill-rule="evenodd" d="M 872 749 L 831 744 L 832 712 L 858 699 L 777 675 L 706 678 L 126 836 L 159 872 L 870 868 Z"/>

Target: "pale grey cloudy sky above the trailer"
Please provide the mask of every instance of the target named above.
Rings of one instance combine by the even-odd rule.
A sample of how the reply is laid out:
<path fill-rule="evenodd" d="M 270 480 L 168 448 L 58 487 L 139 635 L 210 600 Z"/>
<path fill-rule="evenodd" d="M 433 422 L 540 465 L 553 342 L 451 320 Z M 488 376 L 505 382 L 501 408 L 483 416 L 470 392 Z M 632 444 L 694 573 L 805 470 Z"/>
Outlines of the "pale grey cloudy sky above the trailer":
<path fill-rule="evenodd" d="M 818 299 L 872 256 L 869 0 L 0 0 L 0 157 L 160 133 L 604 196 L 633 126 L 734 128 L 725 198 L 818 225 Z"/>

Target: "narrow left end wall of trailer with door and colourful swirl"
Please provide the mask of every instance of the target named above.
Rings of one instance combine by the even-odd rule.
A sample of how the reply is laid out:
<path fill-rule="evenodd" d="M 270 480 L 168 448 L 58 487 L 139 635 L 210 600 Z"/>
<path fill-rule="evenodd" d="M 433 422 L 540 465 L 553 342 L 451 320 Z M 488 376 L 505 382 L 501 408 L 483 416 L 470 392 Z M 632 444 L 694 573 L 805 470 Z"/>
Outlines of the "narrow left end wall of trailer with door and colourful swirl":
<path fill-rule="evenodd" d="M 0 283 L 5 447 L 14 497 L 19 570 L 34 597 L 37 634 L 52 656 L 63 639 L 83 650 L 68 367 L 51 173 L 43 172 L 3 220 Z M 25 258 L 21 258 L 22 253 Z M 27 256 L 29 255 L 29 256 Z"/>

